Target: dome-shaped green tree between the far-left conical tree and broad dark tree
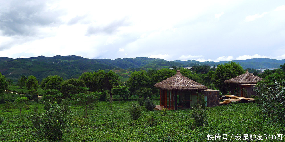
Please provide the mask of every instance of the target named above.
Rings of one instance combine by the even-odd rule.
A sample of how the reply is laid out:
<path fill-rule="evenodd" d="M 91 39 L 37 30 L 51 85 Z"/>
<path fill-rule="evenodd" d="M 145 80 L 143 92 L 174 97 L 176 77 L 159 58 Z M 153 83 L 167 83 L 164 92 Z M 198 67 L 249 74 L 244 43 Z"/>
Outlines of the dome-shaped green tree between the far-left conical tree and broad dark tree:
<path fill-rule="evenodd" d="M 45 82 L 48 80 L 48 77 L 45 78 L 43 81 Z M 43 82 L 43 83 L 44 83 Z M 60 85 L 63 83 L 63 78 L 60 76 L 51 76 L 50 79 L 46 82 L 45 85 L 41 84 L 41 86 L 44 86 L 44 90 L 60 90 Z"/>

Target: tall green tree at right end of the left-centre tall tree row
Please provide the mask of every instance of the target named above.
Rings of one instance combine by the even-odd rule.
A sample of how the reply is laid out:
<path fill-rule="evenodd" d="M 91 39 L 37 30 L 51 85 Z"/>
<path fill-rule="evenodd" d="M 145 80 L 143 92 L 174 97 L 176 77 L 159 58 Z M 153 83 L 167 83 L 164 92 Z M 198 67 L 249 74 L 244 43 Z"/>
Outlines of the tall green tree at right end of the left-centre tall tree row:
<path fill-rule="evenodd" d="M 119 75 L 117 75 L 115 72 L 113 72 L 112 70 L 110 70 L 109 72 L 107 72 L 106 74 L 106 78 L 105 78 L 105 88 L 107 90 L 109 90 L 109 92 L 111 92 L 111 89 L 114 86 L 119 86 L 121 85 L 122 82 L 119 78 Z"/>

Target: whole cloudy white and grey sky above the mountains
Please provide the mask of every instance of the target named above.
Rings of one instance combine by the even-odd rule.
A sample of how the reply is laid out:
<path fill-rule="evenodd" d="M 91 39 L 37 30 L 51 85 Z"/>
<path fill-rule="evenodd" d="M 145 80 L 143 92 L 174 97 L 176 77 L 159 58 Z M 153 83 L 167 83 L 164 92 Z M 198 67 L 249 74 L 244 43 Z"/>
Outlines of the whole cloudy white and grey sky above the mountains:
<path fill-rule="evenodd" d="M 0 1 L 0 56 L 285 59 L 285 1 Z"/>

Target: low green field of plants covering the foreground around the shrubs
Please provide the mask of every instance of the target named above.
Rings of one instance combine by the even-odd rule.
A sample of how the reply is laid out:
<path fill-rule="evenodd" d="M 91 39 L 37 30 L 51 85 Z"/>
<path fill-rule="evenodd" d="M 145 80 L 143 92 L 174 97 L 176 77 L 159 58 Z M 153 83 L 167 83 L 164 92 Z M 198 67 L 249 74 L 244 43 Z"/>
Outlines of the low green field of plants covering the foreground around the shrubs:
<path fill-rule="evenodd" d="M 156 105 L 160 100 L 154 100 Z M 207 141 L 208 134 L 281 134 L 280 124 L 271 124 L 258 116 L 259 107 L 254 103 L 238 103 L 227 106 L 208 108 L 207 123 L 197 127 L 189 110 L 168 110 L 165 116 L 160 111 L 147 111 L 143 106 L 142 116 L 132 120 L 129 106 L 137 101 L 113 101 L 113 113 L 106 102 L 97 102 L 94 110 L 88 110 L 84 119 L 84 110 L 72 106 L 72 112 L 77 112 L 78 119 L 74 121 L 77 127 L 71 127 L 70 132 L 63 136 L 64 141 Z M 23 110 L 22 116 L 17 109 L 11 112 L 0 111 L 4 122 L 0 128 L 0 141 L 45 141 L 34 134 L 29 120 L 32 108 L 38 105 L 44 112 L 42 103 L 30 103 L 29 110 Z M 148 118 L 154 116 L 158 122 L 149 126 Z M 8 120 L 10 121 L 7 125 Z M 232 140 L 235 141 L 235 140 Z"/>

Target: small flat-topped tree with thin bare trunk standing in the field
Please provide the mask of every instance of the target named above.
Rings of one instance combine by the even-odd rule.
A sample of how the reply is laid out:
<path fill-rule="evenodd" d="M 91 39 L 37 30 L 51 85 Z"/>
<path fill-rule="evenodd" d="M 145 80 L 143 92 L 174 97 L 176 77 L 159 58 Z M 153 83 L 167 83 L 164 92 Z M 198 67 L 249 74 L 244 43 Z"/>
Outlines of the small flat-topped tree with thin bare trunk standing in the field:
<path fill-rule="evenodd" d="M 102 92 L 79 93 L 72 95 L 72 99 L 75 100 L 77 105 L 81 105 L 85 108 L 85 118 L 87 118 L 87 106 L 95 103 L 101 95 Z"/>

